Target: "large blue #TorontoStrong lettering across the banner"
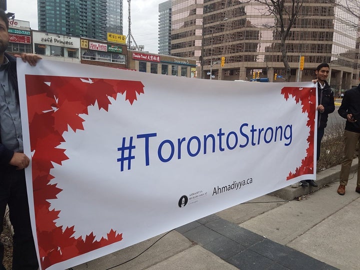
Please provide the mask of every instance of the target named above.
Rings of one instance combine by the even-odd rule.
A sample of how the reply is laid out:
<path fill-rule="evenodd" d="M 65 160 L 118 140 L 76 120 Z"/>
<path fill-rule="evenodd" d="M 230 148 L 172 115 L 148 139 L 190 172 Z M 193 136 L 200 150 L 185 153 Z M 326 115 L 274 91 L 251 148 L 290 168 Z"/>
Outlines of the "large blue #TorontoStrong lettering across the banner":
<path fill-rule="evenodd" d="M 151 143 L 153 143 L 151 140 L 152 137 L 157 137 L 157 133 L 136 135 L 136 139 L 144 140 L 144 149 L 143 152 L 141 152 L 141 155 L 145 159 L 146 166 L 150 165 L 151 161 L 149 148 Z M 241 142 L 239 142 L 240 140 Z M 156 148 L 158 159 L 161 162 L 168 162 L 173 158 L 181 159 L 181 156 L 183 155 L 193 157 L 200 154 L 200 152 L 202 154 L 207 154 L 208 151 L 233 150 L 236 147 L 244 148 L 271 142 L 283 142 L 284 146 L 289 146 L 292 142 L 292 124 L 255 128 L 253 124 L 250 127 L 248 123 L 243 123 L 241 124 L 238 133 L 229 131 L 225 134 L 225 132 L 222 131 L 222 128 L 219 128 L 216 134 L 204 134 L 201 137 L 195 135 L 189 138 L 182 137 L 177 138 L 176 141 L 164 139 L 156 145 Z M 170 149 L 169 153 L 166 151 L 166 156 L 164 156 L 163 147 Z M 125 161 L 127 161 L 127 169 L 131 169 L 131 159 L 135 159 L 132 150 L 135 148 L 133 136 L 130 136 L 127 139 L 127 143 L 126 137 L 122 138 L 121 146 L 117 147 L 117 151 L 120 152 L 120 157 L 117 158 L 117 162 L 120 162 L 121 171 L 124 169 Z"/>

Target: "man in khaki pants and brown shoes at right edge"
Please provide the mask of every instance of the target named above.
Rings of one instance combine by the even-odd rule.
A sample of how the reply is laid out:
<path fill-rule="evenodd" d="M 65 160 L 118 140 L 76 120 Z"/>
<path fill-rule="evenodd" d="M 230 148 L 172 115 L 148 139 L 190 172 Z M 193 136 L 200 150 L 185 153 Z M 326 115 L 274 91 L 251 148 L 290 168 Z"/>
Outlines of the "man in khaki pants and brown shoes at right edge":
<path fill-rule="evenodd" d="M 344 130 L 344 158 L 341 162 L 340 185 L 337 193 L 345 194 L 348 175 L 356 145 L 360 143 L 360 84 L 345 91 L 341 105 L 337 112 L 346 119 Z M 360 162 L 357 170 L 360 168 Z M 360 193 L 360 173 L 357 172 L 357 185 L 355 191 Z"/>

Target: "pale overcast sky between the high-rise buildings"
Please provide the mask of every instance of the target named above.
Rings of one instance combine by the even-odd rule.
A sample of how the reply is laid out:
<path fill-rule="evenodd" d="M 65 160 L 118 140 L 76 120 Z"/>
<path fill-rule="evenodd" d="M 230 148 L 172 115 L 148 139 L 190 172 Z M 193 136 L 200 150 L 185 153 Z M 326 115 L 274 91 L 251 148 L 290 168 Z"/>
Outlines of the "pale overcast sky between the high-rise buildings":
<path fill-rule="evenodd" d="M 165 0 L 131 0 L 131 33 L 137 45 L 145 51 L 157 53 L 158 4 Z M 123 34 L 127 35 L 127 0 L 123 0 Z M 37 0 L 7 0 L 7 11 L 15 19 L 30 21 L 37 30 Z"/>

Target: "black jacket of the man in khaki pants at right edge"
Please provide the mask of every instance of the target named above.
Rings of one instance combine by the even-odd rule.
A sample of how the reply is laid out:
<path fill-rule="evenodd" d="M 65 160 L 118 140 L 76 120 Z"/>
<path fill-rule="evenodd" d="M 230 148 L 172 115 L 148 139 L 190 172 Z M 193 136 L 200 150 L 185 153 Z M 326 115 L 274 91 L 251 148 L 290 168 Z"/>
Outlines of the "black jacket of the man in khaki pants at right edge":
<path fill-rule="evenodd" d="M 345 91 L 337 112 L 346 119 L 345 130 L 360 133 L 360 84 Z M 346 115 L 349 113 L 356 119 L 356 122 L 347 121 Z"/>

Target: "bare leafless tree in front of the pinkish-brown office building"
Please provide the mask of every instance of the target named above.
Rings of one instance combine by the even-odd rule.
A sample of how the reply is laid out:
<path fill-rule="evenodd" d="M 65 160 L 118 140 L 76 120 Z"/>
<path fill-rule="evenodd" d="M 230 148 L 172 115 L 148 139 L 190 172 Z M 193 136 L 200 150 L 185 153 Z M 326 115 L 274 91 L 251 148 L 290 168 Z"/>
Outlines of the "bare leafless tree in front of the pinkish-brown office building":
<path fill-rule="evenodd" d="M 254 0 L 265 7 L 262 15 L 273 16 L 274 24 L 263 24 L 263 27 L 273 28 L 280 40 L 281 59 L 285 67 L 285 79 L 290 79 L 290 65 L 287 60 L 286 39 L 299 17 L 299 11 L 304 0 Z"/>

